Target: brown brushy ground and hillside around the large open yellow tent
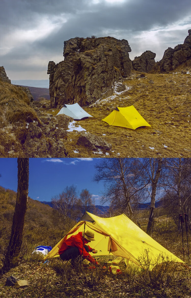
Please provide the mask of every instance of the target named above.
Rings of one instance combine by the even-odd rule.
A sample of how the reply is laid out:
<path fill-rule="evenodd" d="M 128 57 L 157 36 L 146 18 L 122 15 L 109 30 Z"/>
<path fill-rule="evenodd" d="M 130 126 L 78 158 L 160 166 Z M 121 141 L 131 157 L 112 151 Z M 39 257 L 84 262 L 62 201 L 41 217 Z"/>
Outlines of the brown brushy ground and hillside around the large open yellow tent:
<path fill-rule="evenodd" d="M 0 187 L 0 266 L 10 237 L 11 219 L 14 212 L 16 193 Z M 29 198 L 26 213 L 24 239 L 19 266 L 12 268 L 0 277 L 0 297 L 190 297 L 191 271 L 187 258 L 186 240 L 184 237 L 186 265 L 174 262 L 156 264 L 153 270 L 149 268 L 147 259 L 140 258 L 140 266 L 145 269 L 134 270 L 125 266 L 124 260 L 119 263 L 120 275 L 113 275 L 109 268 L 89 269 L 89 266 L 76 264 L 72 269 L 70 262 L 61 262 L 53 258 L 43 265 L 39 257 L 31 253 L 37 245 L 54 246 L 67 232 L 69 226 L 61 229 L 57 214 L 48 205 Z M 153 238 L 183 259 L 181 234 L 171 218 L 160 215 L 162 210 L 156 210 Z M 137 213 L 143 230 L 148 222 L 147 212 Z M 72 224 L 73 225 L 73 224 Z M 190 235 L 189 235 L 190 243 Z M 100 257 L 99 262 L 115 256 Z M 10 275 L 25 279 L 29 286 L 16 289 L 5 286 Z"/>

